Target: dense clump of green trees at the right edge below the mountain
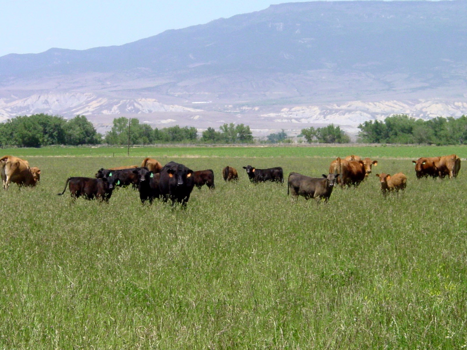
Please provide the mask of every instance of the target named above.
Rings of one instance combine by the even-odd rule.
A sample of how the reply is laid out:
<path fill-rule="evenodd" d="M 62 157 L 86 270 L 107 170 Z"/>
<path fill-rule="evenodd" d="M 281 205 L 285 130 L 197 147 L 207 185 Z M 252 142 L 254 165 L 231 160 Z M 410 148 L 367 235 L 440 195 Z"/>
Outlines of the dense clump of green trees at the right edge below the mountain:
<path fill-rule="evenodd" d="M 399 143 L 464 145 L 467 143 L 467 117 L 415 119 L 396 114 L 384 121 L 370 120 L 358 126 L 358 141 L 363 143 Z"/>

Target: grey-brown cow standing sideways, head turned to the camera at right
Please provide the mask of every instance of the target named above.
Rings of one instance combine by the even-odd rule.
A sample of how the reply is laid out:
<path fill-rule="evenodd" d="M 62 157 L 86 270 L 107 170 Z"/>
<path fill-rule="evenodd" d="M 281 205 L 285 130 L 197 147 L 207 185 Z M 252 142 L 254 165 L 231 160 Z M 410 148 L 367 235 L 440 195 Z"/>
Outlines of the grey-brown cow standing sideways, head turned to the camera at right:
<path fill-rule="evenodd" d="M 331 193 L 333 193 L 334 184 L 336 183 L 339 174 L 328 174 L 321 177 L 309 177 L 298 173 L 290 173 L 287 187 L 287 195 L 289 190 L 292 196 L 304 196 L 306 200 L 309 198 L 319 198 L 327 202 Z"/>

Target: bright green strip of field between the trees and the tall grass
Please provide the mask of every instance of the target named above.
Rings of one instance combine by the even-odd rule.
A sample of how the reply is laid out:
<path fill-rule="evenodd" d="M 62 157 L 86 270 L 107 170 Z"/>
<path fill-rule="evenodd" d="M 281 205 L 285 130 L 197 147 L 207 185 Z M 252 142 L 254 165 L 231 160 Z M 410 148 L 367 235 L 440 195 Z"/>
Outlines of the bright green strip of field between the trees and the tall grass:
<path fill-rule="evenodd" d="M 76 156 L 76 157 L 122 157 L 127 156 L 126 147 L 43 147 L 4 148 L 3 154 L 17 156 Z M 457 154 L 467 158 L 467 146 L 259 146 L 259 147 L 132 147 L 131 157 L 333 157 L 359 154 L 380 158 L 419 158 Z"/>

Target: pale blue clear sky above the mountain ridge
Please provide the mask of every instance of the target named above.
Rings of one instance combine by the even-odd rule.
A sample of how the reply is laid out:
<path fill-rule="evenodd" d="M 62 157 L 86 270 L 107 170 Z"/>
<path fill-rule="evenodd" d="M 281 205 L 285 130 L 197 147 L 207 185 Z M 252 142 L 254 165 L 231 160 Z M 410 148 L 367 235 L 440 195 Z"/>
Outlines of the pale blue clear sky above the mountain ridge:
<path fill-rule="evenodd" d="M 122 45 L 287 0 L 3 0 L 0 56 Z M 295 0 L 297 2 L 297 0 Z M 300 1 L 301 2 L 301 1 Z"/>

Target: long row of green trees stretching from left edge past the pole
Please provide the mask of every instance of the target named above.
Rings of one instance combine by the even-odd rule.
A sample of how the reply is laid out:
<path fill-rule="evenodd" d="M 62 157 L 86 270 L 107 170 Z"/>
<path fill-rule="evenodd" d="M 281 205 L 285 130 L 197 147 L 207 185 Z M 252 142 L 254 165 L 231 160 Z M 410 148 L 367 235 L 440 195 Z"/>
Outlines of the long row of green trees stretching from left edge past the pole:
<path fill-rule="evenodd" d="M 110 131 L 102 135 L 83 115 L 67 120 L 60 116 L 39 113 L 19 116 L 0 123 L 0 147 L 42 147 L 50 145 L 149 145 L 163 143 L 251 143 L 250 127 L 233 123 L 208 127 L 200 137 L 193 126 L 152 128 L 139 119 L 113 119 Z"/>

